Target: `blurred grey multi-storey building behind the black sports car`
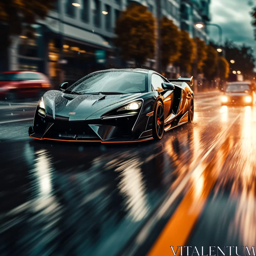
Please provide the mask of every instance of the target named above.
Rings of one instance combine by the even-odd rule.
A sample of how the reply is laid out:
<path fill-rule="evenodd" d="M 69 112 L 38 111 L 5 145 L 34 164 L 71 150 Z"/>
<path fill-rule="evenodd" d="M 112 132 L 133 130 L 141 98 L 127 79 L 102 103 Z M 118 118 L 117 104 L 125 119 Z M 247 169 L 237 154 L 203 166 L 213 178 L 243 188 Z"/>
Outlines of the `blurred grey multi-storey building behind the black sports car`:
<path fill-rule="evenodd" d="M 8 69 L 39 71 L 58 84 L 64 80 L 74 83 L 100 69 L 132 67 L 132 63 L 118 57 L 113 44 L 116 19 L 131 3 L 147 6 L 155 17 L 156 4 L 160 4 L 162 16 L 191 37 L 208 41 L 206 26 L 196 29 L 194 23 L 210 20 L 210 0 L 156 1 L 159 0 L 59 0 L 55 10 L 32 25 L 36 31 L 33 38 L 28 38 L 26 31 L 12 38 Z M 150 67 L 150 61 L 145 63 L 145 68 Z"/>

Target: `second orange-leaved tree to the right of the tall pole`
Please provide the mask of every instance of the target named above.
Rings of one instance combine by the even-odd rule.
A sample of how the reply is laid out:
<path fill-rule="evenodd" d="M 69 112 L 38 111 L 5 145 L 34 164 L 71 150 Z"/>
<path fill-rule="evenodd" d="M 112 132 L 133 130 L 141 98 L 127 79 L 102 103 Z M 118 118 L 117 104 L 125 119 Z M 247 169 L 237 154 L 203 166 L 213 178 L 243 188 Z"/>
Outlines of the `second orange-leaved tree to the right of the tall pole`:
<path fill-rule="evenodd" d="M 178 65 L 182 72 L 191 72 L 191 65 L 193 64 L 196 56 L 196 44 L 193 39 L 189 37 L 189 34 L 185 30 L 180 32 L 180 57 L 178 59 Z"/>

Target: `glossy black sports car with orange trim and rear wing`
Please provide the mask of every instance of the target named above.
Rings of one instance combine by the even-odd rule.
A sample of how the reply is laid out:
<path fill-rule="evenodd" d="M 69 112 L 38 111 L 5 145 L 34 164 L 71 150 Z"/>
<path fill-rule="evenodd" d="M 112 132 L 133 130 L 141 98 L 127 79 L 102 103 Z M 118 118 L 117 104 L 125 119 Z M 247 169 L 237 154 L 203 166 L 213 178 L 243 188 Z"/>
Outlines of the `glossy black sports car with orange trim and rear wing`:
<path fill-rule="evenodd" d="M 170 83 L 172 82 L 172 83 Z M 39 100 L 29 137 L 38 140 L 136 142 L 193 121 L 193 77 L 167 80 L 153 70 L 94 72 Z"/>

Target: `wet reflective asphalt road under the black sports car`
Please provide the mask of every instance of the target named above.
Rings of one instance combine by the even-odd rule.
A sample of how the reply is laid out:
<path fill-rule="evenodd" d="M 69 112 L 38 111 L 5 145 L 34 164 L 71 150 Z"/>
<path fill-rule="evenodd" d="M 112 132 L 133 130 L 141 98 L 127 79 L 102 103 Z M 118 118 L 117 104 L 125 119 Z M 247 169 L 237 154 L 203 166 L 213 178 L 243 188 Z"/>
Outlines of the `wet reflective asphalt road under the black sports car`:
<path fill-rule="evenodd" d="M 107 146 L 33 140 L 37 102 L 1 101 L 0 255 L 255 245 L 256 107 L 220 97 L 161 141 Z"/>

